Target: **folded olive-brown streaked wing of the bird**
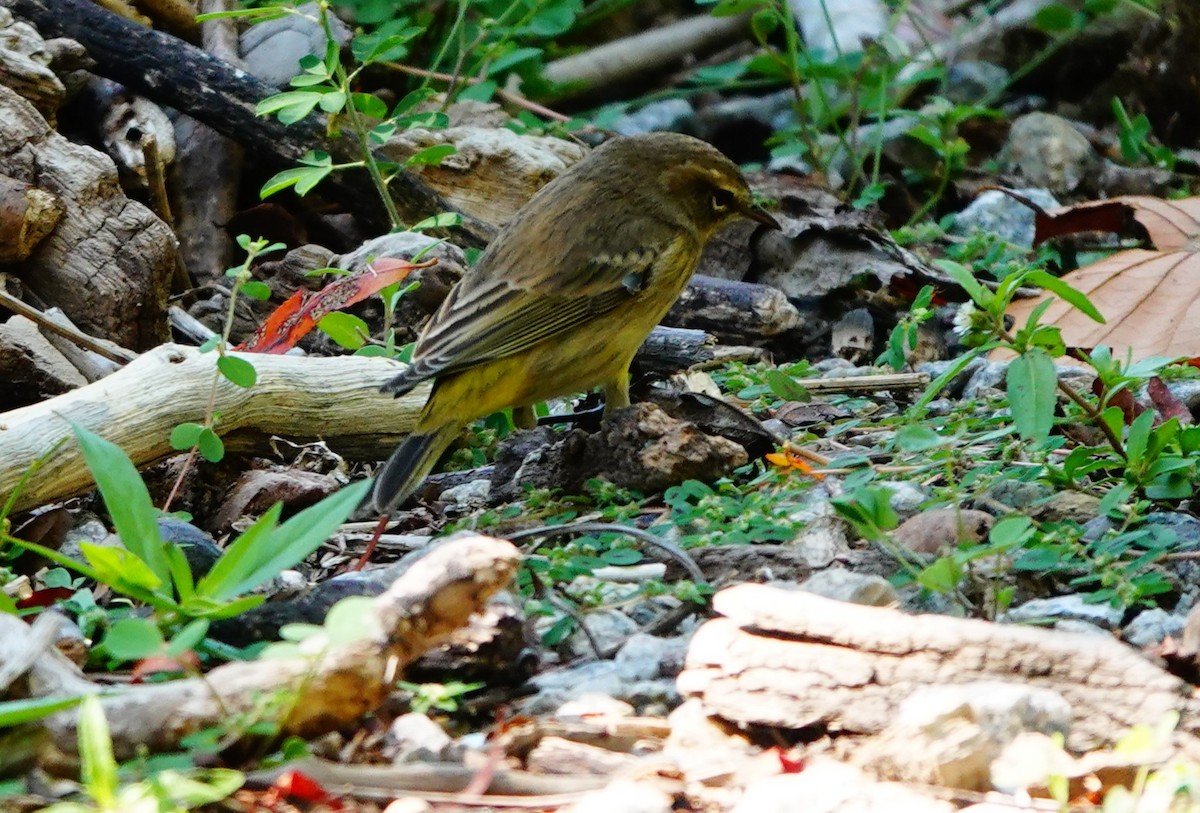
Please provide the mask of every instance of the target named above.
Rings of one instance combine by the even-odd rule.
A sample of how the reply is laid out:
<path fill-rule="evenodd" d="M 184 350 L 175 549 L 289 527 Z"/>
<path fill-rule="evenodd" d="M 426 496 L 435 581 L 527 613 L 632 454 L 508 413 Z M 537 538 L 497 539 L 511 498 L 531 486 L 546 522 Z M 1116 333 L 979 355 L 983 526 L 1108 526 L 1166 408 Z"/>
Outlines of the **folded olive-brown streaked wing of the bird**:
<path fill-rule="evenodd" d="M 487 278 L 455 288 L 418 341 L 408 369 L 385 391 L 402 395 L 437 375 L 516 355 L 608 313 L 646 287 L 664 247 L 656 248 L 592 257 L 557 285 L 541 277 L 530 287 L 514 284 L 520 278 Z"/>

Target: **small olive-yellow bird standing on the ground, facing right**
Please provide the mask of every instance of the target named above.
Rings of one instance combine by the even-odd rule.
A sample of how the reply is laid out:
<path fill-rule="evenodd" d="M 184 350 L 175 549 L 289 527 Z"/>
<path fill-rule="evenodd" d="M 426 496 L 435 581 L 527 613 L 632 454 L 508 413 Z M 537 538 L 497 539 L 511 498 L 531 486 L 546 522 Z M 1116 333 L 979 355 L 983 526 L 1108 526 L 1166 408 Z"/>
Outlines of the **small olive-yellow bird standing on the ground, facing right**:
<path fill-rule="evenodd" d="M 376 477 L 391 513 L 472 421 L 602 387 L 629 405 L 634 354 L 666 315 L 713 234 L 745 217 L 778 229 L 742 170 L 680 133 L 614 138 L 541 187 L 451 288 L 409 366 L 382 390 L 432 380 L 416 426 Z"/>

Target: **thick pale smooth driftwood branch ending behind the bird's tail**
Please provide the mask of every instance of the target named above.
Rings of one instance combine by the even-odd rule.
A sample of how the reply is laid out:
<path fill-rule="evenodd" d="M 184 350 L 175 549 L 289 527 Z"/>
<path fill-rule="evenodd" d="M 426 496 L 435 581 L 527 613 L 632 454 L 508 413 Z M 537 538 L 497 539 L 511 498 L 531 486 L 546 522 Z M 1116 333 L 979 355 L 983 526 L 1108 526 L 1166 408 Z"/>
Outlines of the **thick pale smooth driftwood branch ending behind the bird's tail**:
<path fill-rule="evenodd" d="M 271 435 L 284 435 L 379 459 L 413 427 L 428 395 L 424 386 L 402 398 L 380 393 L 402 369 L 386 359 L 238 355 L 254 365 L 258 381 L 248 390 L 224 379 L 217 385 L 217 432 L 232 451 L 266 452 Z M 138 466 L 174 453 L 170 430 L 204 420 L 216 360 L 166 344 L 95 384 L 0 414 L 0 494 L 11 493 L 29 466 L 65 439 L 17 498 L 17 510 L 91 487 L 68 421 L 115 442 Z"/>

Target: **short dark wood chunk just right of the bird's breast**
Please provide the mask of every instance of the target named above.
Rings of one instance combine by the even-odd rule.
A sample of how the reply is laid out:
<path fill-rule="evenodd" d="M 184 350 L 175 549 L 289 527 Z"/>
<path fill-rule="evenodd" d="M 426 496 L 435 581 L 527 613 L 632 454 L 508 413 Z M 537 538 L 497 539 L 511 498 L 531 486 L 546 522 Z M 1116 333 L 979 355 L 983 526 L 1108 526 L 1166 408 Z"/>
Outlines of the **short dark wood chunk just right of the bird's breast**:
<path fill-rule="evenodd" d="M 755 344 L 798 327 L 800 314 L 770 285 L 697 273 L 662 321 L 706 330 L 730 344 Z"/>

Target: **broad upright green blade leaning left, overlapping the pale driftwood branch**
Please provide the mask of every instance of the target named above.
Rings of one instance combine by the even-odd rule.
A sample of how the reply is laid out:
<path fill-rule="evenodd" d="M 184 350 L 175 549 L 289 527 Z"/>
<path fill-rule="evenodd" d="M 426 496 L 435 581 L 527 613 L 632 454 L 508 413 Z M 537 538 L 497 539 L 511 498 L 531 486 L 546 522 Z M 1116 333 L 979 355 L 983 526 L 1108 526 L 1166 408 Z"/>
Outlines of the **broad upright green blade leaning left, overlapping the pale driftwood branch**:
<path fill-rule="evenodd" d="M 162 537 L 158 535 L 158 512 L 150 501 L 150 493 L 138 470 L 115 444 L 77 423 L 72 423 L 71 429 L 83 450 L 88 469 L 96 478 L 96 487 L 108 508 L 108 516 L 113 518 L 121 544 L 145 562 L 158 584 L 168 583 L 170 573 L 162 550 Z"/>

